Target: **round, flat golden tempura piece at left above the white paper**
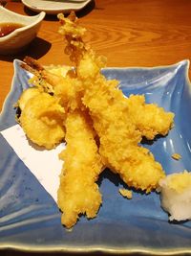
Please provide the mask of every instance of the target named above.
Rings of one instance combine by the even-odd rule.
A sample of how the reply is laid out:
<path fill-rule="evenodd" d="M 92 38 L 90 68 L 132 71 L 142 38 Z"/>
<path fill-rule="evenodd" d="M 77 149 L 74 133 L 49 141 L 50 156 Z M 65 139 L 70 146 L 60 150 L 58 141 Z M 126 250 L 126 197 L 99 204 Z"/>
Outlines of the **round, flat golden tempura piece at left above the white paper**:
<path fill-rule="evenodd" d="M 50 150 L 64 139 L 64 118 L 64 108 L 51 95 L 43 92 L 27 102 L 19 122 L 33 143 Z"/>

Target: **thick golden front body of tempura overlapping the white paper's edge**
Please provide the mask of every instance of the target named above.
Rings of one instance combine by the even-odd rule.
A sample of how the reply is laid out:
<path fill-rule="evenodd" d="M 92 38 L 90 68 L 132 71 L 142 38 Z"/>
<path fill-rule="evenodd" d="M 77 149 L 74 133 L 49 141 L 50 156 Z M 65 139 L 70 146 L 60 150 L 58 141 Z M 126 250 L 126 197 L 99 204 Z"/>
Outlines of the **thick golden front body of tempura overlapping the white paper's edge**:
<path fill-rule="evenodd" d="M 66 150 L 60 158 L 64 166 L 57 192 L 58 207 L 63 212 L 61 221 L 72 227 L 79 214 L 96 217 L 102 202 L 96 180 L 102 171 L 95 131 L 87 113 L 75 110 L 66 120 Z"/>

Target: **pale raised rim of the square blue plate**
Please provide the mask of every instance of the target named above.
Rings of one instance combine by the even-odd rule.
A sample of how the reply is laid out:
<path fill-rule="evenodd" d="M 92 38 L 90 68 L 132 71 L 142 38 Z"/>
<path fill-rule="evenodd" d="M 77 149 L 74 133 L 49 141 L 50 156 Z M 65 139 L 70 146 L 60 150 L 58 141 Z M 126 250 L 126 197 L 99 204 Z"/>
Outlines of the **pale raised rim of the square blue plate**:
<path fill-rule="evenodd" d="M 14 68 L 15 70 L 16 65 L 18 65 L 19 60 L 14 60 Z M 189 60 L 182 60 L 177 64 L 174 65 L 169 65 L 169 66 L 158 66 L 158 67 L 152 67 L 152 68 L 148 68 L 148 67 L 128 67 L 128 68 L 106 68 L 103 70 L 103 73 L 108 76 L 109 78 L 115 78 L 117 71 L 125 73 L 127 71 L 130 72 L 139 72 L 139 71 L 145 71 L 145 72 L 152 72 L 153 70 L 167 70 L 168 73 L 168 69 L 170 71 L 170 69 L 179 69 L 179 67 L 183 66 L 183 75 L 185 78 L 185 82 L 186 82 L 186 86 L 191 87 L 190 85 L 190 81 L 188 79 L 188 68 L 189 68 Z M 109 75 L 108 75 L 109 74 Z M 114 77 L 113 77 L 114 75 Z M 3 128 L 8 128 L 10 125 L 10 122 L 8 121 L 8 123 L 6 124 L 5 120 L 6 120 L 6 116 L 9 114 L 8 113 L 8 109 L 10 107 L 10 105 L 12 105 L 12 99 L 14 98 L 14 82 L 15 82 L 15 75 L 13 77 L 12 83 L 11 83 L 11 91 L 3 105 L 3 110 L 2 113 L 0 115 L 0 124 L 2 122 L 4 122 L 5 126 L 3 126 Z M 141 83 L 142 81 L 140 81 Z M 144 79 L 143 79 L 144 82 Z M 139 86 L 139 83 L 138 83 Z M 134 84 L 134 88 L 132 88 L 134 91 L 134 89 L 136 88 L 136 84 Z M 123 85 L 121 84 L 121 88 L 123 89 Z M 136 88 L 138 89 L 138 88 Z M 132 92 L 130 90 L 130 92 Z M 12 118 L 12 117 L 11 117 Z M 1 128 L 1 129 L 3 129 Z M 190 227 L 189 227 L 190 228 Z M 91 245 L 91 247 L 90 247 Z M 23 250 L 23 251 L 53 251 L 53 252 L 59 252 L 59 251 L 64 251 L 64 252 L 94 252 L 94 251 L 102 251 L 102 252 L 107 252 L 107 253 L 135 253 L 135 252 L 141 252 L 141 253 L 147 253 L 147 254 L 165 254 L 165 255 L 178 255 L 181 253 L 190 253 L 191 252 L 191 245 L 190 246 L 186 246 L 186 247 L 169 247 L 169 248 L 165 248 L 165 247 L 152 247 L 152 246 L 144 246 L 143 244 L 140 244 L 139 246 L 133 246 L 133 245 L 123 245 L 120 246 L 120 244 L 112 246 L 111 244 L 101 244 L 101 245 L 96 245 L 96 244 L 88 244 L 85 246 L 78 246 L 78 247 L 73 247 L 72 245 L 63 245 L 63 246 L 57 246 L 57 245 L 51 245 L 51 246 L 43 246 L 43 245 L 35 245 L 33 246 L 32 244 L 14 244 L 14 243 L 3 243 L 0 244 L 0 249 L 5 249 L 5 248 L 13 248 L 13 249 L 19 249 L 19 250 Z"/>

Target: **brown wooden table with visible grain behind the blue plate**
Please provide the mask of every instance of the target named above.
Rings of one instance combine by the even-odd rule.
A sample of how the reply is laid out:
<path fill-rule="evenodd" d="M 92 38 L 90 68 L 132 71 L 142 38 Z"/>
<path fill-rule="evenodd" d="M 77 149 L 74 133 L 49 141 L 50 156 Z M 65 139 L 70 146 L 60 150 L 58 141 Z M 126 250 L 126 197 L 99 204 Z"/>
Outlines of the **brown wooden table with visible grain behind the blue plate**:
<path fill-rule="evenodd" d="M 9 2 L 6 8 L 34 14 L 21 3 Z M 88 29 L 87 40 L 108 58 L 108 66 L 130 67 L 167 65 L 190 59 L 190 11 L 190 0 L 96 0 L 76 13 L 81 25 Z M 56 16 L 46 16 L 28 50 L 18 56 L 0 56 L 0 109 L 11 89 L 14 58 L 29 55 L 42 64 L 70 64 L 57 29 Z M 0 255 L 12 253 L 0 252 Z"/>

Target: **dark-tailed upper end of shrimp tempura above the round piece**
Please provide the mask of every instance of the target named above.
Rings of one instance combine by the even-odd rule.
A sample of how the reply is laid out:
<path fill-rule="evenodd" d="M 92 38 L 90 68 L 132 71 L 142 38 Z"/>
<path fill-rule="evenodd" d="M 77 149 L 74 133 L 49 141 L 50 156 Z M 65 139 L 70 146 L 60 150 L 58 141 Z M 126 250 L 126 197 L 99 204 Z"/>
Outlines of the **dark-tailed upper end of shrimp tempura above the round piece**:
<path fill-rule="evenodd" d="M 58 99 L 59 104 L 65 108 L 66 112 L 68 109 L 84 108 L 84 105 L 81 104 L 82 83 L 76 79 L 73 68 L 69 66 L 45 68 L 31 57 L 26 57 L 24 60 L 26 63 L 21 66 L 34 75 L 30 82 L 45 92 L 52 93 L 53 97 Z"/>

